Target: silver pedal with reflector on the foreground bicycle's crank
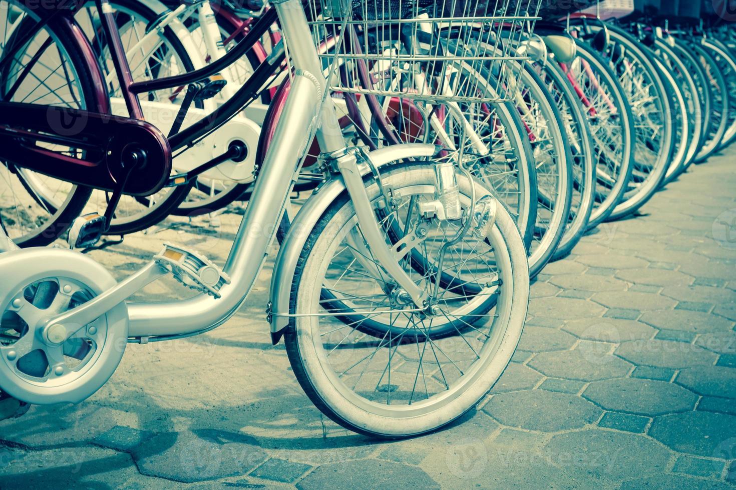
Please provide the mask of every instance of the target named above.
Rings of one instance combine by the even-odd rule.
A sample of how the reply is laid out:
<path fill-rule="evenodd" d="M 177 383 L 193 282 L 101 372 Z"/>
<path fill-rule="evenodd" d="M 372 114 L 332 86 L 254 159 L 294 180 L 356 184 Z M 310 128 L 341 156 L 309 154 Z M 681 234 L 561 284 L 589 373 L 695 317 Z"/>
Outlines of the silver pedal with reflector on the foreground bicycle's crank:
<path fill-rule="evenodd" d="M 219 291 L 224 284 L 230 284 L 230 276 L 210 259 L 177 245 L 164 243 L 163 250 L 153 259 L 166 267 L 181 284 L 215 298 L 220 298 Z"/>

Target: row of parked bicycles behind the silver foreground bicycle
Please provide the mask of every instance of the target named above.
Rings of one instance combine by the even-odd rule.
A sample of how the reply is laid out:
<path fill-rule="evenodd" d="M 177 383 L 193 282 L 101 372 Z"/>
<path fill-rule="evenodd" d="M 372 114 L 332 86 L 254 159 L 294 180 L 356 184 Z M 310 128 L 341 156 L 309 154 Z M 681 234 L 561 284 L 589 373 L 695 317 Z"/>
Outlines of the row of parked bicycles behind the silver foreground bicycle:
<path fill-rule="evenodd" d="M 209 1 L 170 5 L 171 10 L 158 0 L 110 4 L 134 81 L 177 75 L 221 59 L 238 45 L 258 16 L 269 12 L 267 7 L 243 10 L 228 3 L 213 10 Z M 547 18 L 537 23 L 542 37 L 533 36 L 524 53 L 531 61 L 516 81 L 520 90 L 513 100 L 480 109 L 465 104 L 459 107 L 462 116 L 442 104 L 420 107 L 412 98 L 394 95 L 375 107 L 372 100 L 358 100 L 359 95 L 335 93 L 344 136 L 350 143 L 377 148 L 385 141 L 426 141 L 439 123 L 450 128 L 434 143 L 456 148 L 460 140 L 466 140 L 464 153 L 478 158 L 475 173 L 492 184 L 517 216 L 530 248 L 532 275 L 536 275 L 549 260 L 570 253 L 587 230 L 636 212 L 693 162 L 704 161 L 736 138 L 732 33 L 726 24 L 701 27 L 699 10 L 694 18 L 673 15 L 673 24 L 665 24 L 657 7 L 657 1 L 609 1 L 597 7 L 598 14 L 602 11 L 607 18 L 595 18 L 596 7 L 590 7 L 562 21 Z M 113 60 L 96 30 L 99 15 L 90 4 L 75 17 L 88 32 L 106 75 L 113 113 L 124 114 L 127 108 Z M 232 97 L 279 40 L 274 24 L 217 79 L 200 82 L 197 95 L 183 87 L 144 93 L 145 119 L 169 133 L 187 126 L 199 113 Z M 323 48 L 328 60 L 330 48 Z M 509 43 L 506 49 L 512 48 L 515 46 Z M 51 90 L 50 86 L 57 85 L 55 77 L 67 75 L 53 71 L 56 67 L 50 61 L 40 68 L 50 73 L 33 77 L 38 86 L 24 82 L 19 101 L 56 97 L 71 104 L 79 99 L 77 91 L 93 90 L 85 87 L 88 81 L 83 77 L 74 81 L 79 87 L 68 87 L 66 93 L 60 94 L 58 87 Z M 53 61 L 63 65 L 61 59 Z M 495 70 L 499 72 L 498 67 Z M 194 151 L 174 158 L 173 173 L 185 173 L 222 154 L 219 149 L 227 148 L 230 140 L 243 141 L 246 156 L 239 162 L 224 159 L 210 165 L 196 179 L 170 179 L 154 195 L 124 196 L 107 233 L 128 234 L 154 226 L 169 215 L 192 217 L 246 201 L 289 90 L 285 71 L 275 76 L 244 116 L 231 119 L 216 135 L 197 142 Z M 358 71 L 348 73 L 344 68 L 342 78 L 347 85 L 365 82 Z M 484 84 L 490 85 L 487 80 Z M 481 85 L 476 82 L 461 90 L 479 90 Z M 183 104 L 189 106 L 188 115 L 177 120 Z M 445 115 L 437 116 L 443 111 Z M 316 143 L 312 149 L 319 151 Z M 483 160 L 489 152 L 504 156 L 501 168 L 486 165 Z M 316 154 L 307 159 L 297 191 L 310 190 L 319 182 L 317 164 Z M 3 223 L 21 246 L 48 245 L 75 217 L 102 211 L 110 202 L 111 192 L 73 186 L 28 170 L 13 175 L 7 167 L 5 173 Z"/>

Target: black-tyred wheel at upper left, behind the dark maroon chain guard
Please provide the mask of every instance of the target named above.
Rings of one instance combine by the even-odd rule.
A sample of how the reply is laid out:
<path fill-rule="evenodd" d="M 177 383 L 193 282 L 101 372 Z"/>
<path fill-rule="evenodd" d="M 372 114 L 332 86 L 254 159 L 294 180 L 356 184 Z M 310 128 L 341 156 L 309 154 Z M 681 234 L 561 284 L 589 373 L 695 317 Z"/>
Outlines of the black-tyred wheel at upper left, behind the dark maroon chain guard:
<path fill-rule="evenodd" d="M 0 101 L 104 110 L 88 60 L 68 26 L 52 18 L 40 25 L 35 13 L 15 1 L 0 2 Z M 35 32 L 24 41 L 29 32 Z M 21 43 L 23 43 L 21 45 Z M 80 150 L 46 145 L 59 154 Z M 79 216 L 91 190 L 0 162 L 0 220 L 21 247 L 49 245 Z"/>

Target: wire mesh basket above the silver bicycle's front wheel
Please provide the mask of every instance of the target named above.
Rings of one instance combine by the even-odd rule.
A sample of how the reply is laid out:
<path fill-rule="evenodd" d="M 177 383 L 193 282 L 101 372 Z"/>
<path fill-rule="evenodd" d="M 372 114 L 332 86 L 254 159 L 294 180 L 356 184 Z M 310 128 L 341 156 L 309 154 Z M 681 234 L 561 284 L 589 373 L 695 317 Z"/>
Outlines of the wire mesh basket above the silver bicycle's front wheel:
<path fill-rule="evenodd" d="M 510 101 L 541 0 L 310 0 L 330 89 Z M 325 48 L 331 46 L 331 48 Z"/>

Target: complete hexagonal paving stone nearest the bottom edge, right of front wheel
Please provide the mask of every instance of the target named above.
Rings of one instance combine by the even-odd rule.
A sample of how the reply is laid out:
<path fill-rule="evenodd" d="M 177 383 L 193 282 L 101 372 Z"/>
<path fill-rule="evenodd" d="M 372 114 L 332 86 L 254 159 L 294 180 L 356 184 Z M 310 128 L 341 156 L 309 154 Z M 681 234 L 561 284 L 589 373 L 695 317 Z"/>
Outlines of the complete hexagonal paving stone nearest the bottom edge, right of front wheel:
<path fill-rule="evenodd" d="M 617 480 L 665 471 L 670 451 L 645 436 L 613 430 L 580 430 L 553 436 L 545 455 L 564 466 Z"/>

